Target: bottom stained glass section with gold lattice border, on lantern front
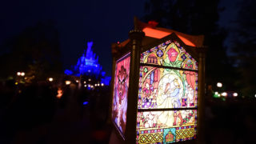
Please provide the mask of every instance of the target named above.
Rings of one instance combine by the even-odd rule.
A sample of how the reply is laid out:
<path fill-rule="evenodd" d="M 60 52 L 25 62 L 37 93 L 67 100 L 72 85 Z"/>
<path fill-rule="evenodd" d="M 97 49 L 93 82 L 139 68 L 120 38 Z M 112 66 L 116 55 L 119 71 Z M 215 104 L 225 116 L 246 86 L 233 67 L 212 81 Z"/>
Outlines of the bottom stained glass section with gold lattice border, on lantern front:
<path fill-rule="evenodd" d="M 172 143 L 196 138 L 197 110 L 138 112 L 137 143 Z"/>

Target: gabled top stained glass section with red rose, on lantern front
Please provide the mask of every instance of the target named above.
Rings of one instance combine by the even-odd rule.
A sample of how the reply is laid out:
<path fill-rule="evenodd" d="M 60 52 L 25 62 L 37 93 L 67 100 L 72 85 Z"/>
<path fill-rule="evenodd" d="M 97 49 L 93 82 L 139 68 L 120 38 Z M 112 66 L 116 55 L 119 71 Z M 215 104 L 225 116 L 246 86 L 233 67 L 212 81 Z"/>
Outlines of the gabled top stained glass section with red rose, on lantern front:
<path fill-rule="evenodd" d="M 167 41 L 141 54 L 141 63 L 198 70 L 198 62 L 178 42 Z"/>

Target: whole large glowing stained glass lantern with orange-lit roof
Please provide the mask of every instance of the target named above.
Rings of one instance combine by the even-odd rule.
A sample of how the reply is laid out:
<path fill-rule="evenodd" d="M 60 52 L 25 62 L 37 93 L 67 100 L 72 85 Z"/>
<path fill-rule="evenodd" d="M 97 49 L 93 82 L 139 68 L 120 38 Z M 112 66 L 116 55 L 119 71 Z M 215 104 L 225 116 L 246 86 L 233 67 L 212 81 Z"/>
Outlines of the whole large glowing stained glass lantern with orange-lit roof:
<path fill-rule="evenodd" d="M 203 36 L 136 19 L 134 23 L 130 38 L 112 45 L 111 121 L 118 142 L 198 140 L 204 94 Z"/>

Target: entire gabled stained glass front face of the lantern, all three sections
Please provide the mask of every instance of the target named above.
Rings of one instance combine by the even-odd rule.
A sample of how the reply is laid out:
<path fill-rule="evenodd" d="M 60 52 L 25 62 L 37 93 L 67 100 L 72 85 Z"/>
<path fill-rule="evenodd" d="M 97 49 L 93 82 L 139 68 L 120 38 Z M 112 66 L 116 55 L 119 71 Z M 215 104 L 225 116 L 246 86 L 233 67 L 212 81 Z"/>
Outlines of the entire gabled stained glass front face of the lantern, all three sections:
<path fill-rule="evenodd" d="M 137 143 L 196 138 L 198 62 L 176 41 L 141 54 Z"/>

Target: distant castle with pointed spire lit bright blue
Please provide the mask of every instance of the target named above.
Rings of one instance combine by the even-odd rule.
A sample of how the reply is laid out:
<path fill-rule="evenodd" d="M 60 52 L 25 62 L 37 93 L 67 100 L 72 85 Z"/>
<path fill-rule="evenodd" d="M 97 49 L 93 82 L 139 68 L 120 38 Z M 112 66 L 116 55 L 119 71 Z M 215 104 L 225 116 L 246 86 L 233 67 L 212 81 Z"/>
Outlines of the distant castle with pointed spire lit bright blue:
<path fill-rule="evenodd" d="M 95 78 L 101 78 L 102 83 L 109 85 L 110 77 L 105 76 L 105 71 L 102 70 L 102 66 L 98 63 L 98 57 L 92 51 L 93 42 L 87 42 L 87 49 L 82 54 L 82 57 L 78 58 L 78 62 L 73 66 L 73 70 L 65 70 L 65 74 L 80 76 L 89 76 Z"/>

